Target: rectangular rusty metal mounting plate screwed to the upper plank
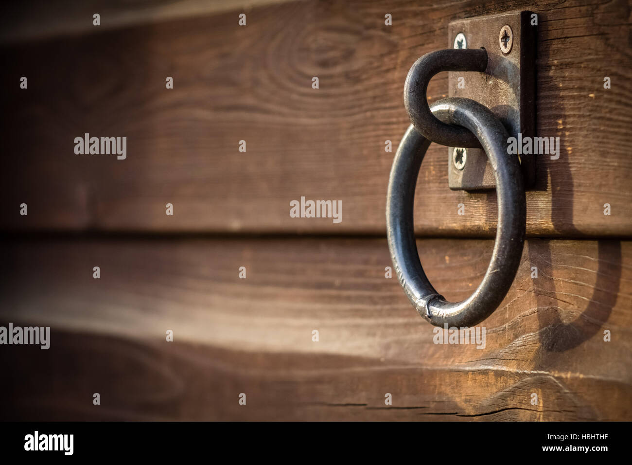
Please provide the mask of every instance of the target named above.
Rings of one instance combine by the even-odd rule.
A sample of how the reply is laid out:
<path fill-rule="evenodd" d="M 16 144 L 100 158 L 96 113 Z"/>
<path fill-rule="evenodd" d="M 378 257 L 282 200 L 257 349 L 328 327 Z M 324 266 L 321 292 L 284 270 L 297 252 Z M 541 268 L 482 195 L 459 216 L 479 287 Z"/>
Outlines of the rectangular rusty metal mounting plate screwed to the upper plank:
<path fill-rule="evenodd" d="M 532 11 L 480 16 L 453 21 L 448 26 L 449 47 L 459 33 L 465 35 L 468 49 L 483 47 L 488 64 L 485 73 L 451 71 L 448 73 L 449 96 L 466 97 L 491 109 L 510 136 L 535 135 L 535 32 Z M 501 29 L 509 25 L 513 44 L 509 53 L 501 51 Z M 460 39 L 460 37 L 459 37 Z M 463 42 L 461 42 L 463 44 Z M 459 89 L 459 77 L 461 87 Z M 449 147 L 448 183 L 453 190 L 494 189 L 494 170 L 481 149 L 466 149 L 465 166 L 459 170 L 453 162 L 454 147 Z M 518 156 L 518 155 L 516 155 Z M 521 159 L 525 187 L 535 183 L 535 158 Z"/>

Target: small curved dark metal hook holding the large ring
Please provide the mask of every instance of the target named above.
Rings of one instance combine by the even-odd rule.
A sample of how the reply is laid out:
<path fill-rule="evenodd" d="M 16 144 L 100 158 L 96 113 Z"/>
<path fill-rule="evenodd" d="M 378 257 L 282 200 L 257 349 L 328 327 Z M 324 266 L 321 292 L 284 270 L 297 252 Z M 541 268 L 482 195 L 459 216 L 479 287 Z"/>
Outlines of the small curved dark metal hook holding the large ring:
<path fill-rule="evenodd" d="M 477 147 L 480 143 L 473 133 L 459 126 L 437 120 L 430 112 L 426 91 L 428 82 L 440 71 L 485 71 L 485 49 L 447 49 L 430 52 L 415 61 L 404 84 L 404 106 L 410 122 L 436 144 L 449 147 Z"/>

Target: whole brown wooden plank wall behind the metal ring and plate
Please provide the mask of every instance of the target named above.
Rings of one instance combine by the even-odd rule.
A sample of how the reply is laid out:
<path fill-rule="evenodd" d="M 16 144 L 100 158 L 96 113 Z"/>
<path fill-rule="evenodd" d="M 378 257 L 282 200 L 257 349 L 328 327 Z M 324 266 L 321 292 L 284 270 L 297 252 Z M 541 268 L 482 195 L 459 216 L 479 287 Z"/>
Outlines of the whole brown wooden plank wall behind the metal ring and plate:
<path fill-rule="evenodd" d="M 0 347 L 4 418 L 632 418 L 628 1 L 293 1 L 253 6 L 246 27 L 234 5 L 183 1 L 105 9 L 102 29 L 79 4 L 0 45 L 0 325 L 52 326 L 49 350 Z M 538 159 L 530 240 L 485 348 L 437 345 L 385 278 L 403 82 L 451 20 L 515 9 L 538 13 L 538 135 L 561 156 Z M 428 96 L 446 92 L 442 73 Z M 85 132 L 126 136 L 127 158 L 76 155 Z M 487 268 L 496 204 L 449 190 L 446 161 L 430 147 L 415 227 L 457 300 Z M 342 200 L 343 221 L 290 218 L 301 195 Z"/>

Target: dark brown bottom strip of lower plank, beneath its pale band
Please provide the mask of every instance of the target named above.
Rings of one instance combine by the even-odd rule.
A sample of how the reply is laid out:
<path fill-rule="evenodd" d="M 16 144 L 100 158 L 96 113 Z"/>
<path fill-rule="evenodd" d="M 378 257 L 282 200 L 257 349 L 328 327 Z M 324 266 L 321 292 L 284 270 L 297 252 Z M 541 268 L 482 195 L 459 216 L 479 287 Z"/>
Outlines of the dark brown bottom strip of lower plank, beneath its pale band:
<path fill-rule="evenodd" d="M 2 419 L 570 421 L 629 419 L 629 385 L 496 369 L 398 366 L 56 333 L 56 350 L 0 352 Z M 33 375 L 33 374 L 37 375 Z M 18 381 L 19 380 L 19 381 Z M 44 380 L 46 380 L 44 382 Z M 12 390 L 13 389 L 13 390 Z M 92 394 L 101 395 L 100 406 Z M 246 394 L 246 405 L 238 404 Z M 540 406 L 530 404 L 538 394 Z M 392 394 L 392 405 L 384 404 Z M 9 395 L 6 395 L 9 394 Z M 9 402 L 8 399 L 11 399 Z"/>

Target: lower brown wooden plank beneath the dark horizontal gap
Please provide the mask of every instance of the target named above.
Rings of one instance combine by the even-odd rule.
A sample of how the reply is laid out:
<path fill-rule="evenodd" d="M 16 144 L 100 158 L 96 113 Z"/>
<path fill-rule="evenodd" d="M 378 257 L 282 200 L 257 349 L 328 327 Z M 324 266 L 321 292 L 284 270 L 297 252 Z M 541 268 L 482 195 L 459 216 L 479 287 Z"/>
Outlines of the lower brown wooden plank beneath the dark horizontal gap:
<path fill-rule="evenodd" d="M 456 300 L 492 242 L 418 249 Z M 0 350 L 4 418 L 632 418 L 630 242 L 528 241 L 484 349 L 434 344 L 384 277 L 381 239 L 28 240 L 2 254 L 0 321 L 52 326 L 49 350 Z"/>

